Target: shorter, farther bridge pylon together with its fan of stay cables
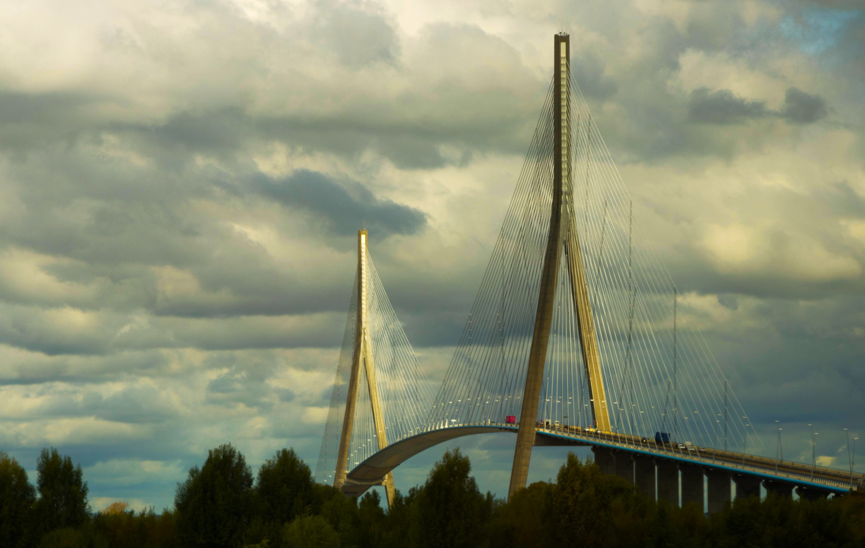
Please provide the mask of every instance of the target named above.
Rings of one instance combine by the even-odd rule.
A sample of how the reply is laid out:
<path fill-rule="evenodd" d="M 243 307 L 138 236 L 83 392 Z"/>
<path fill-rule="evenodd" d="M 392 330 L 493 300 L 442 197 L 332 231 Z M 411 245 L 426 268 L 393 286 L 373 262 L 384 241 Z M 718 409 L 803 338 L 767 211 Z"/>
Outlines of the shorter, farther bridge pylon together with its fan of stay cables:
<path fill-rule="evenodd" d="M 364 229 L 357 232 L 351 303 L 316 479 L 332 478 L 334 487 L 354 496 L 383 486 L 390 506 L 396 490 L 389 470 L 373 480 L 352 478 L 350 470 L 389 443 L 418 434 L 430 398 L 426 377 L 375 272 Z"/>

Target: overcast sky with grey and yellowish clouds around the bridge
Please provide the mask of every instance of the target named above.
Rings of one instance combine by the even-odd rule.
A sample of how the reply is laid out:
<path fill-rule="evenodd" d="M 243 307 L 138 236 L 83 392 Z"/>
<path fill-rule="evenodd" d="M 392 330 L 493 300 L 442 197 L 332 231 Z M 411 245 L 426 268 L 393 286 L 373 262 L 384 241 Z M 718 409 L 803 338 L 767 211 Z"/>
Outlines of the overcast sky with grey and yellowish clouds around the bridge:
<path fill-rule="evenodd" d="M 361 226 L 440 379 L 561 29 L 766 446 L 778 420 L 810 461 L 811 422 L 847 467 L 842 429 L 865 434 L 855 0 L 0 3 L 0 450 L 33 477 L 42 447 L 72 455 L 94 509 L 170 506 L 223 442 L 314 468 Z M 503 495 L 515 441 L 452 446 Z M 563 454 L 536 449 L 529 480 Z"/>

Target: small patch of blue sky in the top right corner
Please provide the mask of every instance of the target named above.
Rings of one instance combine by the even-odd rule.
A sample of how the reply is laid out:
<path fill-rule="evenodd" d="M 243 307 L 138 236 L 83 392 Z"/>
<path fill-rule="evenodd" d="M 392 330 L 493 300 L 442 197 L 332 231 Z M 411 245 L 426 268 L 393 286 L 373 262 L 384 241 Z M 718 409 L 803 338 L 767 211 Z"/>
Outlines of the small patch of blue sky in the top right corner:
<path fill-rule="evenodd" d="M 862 10 L 811 8 L 800 16 L 786 16 L 780 24 L 781 34 L 799 42 L 799 48 L 809 55 L 818 55 L 841 42 L 844 27 Z"/>

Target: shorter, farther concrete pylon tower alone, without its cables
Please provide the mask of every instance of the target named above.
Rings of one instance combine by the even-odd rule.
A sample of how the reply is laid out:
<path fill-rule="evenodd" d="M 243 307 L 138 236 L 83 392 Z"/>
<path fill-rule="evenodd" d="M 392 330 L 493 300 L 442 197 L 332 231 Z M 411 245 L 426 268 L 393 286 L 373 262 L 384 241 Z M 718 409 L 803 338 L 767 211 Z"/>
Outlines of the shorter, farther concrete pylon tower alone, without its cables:
<path fill-rule="evenodd" d="M 373 408 L 373 422 L 375 423 L 375 438 L 378 441 L 379 450 L 388 447 L 388 435 L 384 429 L 384 416 L 381 412 L 381 398 L 379 397 L 378 384 L 375 382 L 375 358 L 373 357 L 373 346 L 368 329 L 368 253 L 367 253 L 367 231 L 357 231 L 357 321 L 355 328 L 355 353 L 351 362 L 351 376 L 349 377 L 349 393 L 345 402 L 345 416 L 343 418 L 343 431 L 339 438 L 339 452 L 336 455 L 336 479 L 334 487 L 342 489 L 346 481 L 346 466 L 349 461 L 349 444 L 351 442 L 351 429 L 354 426 L 355 411 L 357 408 L 357 390 L 361 373 L 361 367 L 367 377 L 369 390 L 369 401 Z M 381 485 L 385 487 L 388 496 L 388 507 L 394 503 L 394 475 L 388 472 Z"/>

